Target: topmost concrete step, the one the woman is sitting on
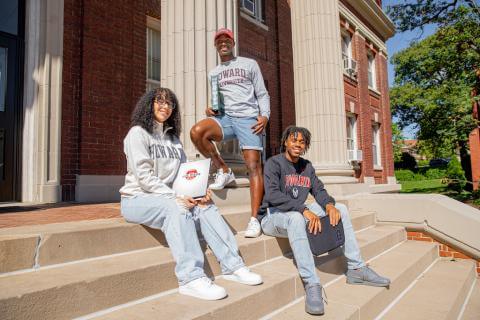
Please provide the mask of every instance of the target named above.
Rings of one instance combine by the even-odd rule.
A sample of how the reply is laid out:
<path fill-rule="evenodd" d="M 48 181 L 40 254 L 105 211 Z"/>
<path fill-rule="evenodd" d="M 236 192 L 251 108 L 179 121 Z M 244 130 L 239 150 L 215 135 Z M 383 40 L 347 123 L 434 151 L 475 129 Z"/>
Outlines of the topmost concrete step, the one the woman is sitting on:
<path fill-rule="evenodd" d="M 229 206 L 221 212 L 234 233 L 244 230 L 250 218 L 249 206 Z M 356 230 L 375 222 L 373 213 L 351 215 Z M 123 218 L 5 228 L 0 229 L 0 274 L 164 244 L 161 231 Z"/>

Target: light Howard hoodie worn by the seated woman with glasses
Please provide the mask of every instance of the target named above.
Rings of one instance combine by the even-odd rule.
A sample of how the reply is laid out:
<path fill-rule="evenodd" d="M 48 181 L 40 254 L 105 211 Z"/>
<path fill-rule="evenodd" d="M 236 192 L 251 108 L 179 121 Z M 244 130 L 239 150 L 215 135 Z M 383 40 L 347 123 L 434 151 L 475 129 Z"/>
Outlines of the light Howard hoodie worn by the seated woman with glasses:
<path fill-rule="evenodd" d="M 186 161 L 183 146 L 178 137 L 163 131 L 161 123 L 155 123 L 153 134 L 140 126 L 130 129 L 123 140 L 127 156 L 125 185 L 120 189 L 122 197 L 138 194 L 162 194 L 175 198 L 171 186 L 178 168 Z"/>

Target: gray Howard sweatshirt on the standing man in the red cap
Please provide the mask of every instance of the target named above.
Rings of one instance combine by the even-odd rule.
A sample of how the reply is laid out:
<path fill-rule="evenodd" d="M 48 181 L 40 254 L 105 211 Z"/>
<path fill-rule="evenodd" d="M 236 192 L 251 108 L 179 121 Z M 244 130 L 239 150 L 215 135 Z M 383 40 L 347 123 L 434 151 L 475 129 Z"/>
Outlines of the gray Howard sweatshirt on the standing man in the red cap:
<path fill-rule="evenodd" d="M 220 100 L 227 115 L 243 118 L 260 114 L 270 118 L 270 96 L 255 60 L 235 57 L 222 62 L 209 72 L 210 86 L 213 76 L 217 78 Z"/>

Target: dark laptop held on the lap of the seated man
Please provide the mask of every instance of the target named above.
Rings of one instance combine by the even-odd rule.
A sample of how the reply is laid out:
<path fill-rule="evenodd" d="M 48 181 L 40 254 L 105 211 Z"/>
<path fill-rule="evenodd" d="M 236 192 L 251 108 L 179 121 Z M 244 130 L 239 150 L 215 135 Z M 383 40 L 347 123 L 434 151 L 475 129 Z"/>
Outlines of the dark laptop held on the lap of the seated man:
<path fill-rule="evenodd" d="M 332 226 L 330 217 L 324 216 L 320 218 L 320 223 L 322 224 L 322 232 L 317 232 L 316 235 L 308 231 L 307 223 L 308 243 L 310 244 L 310 250 L 315 256 L 332 251 L 345 243 L 342 220 L 339 220 L 336 226 Z"/>

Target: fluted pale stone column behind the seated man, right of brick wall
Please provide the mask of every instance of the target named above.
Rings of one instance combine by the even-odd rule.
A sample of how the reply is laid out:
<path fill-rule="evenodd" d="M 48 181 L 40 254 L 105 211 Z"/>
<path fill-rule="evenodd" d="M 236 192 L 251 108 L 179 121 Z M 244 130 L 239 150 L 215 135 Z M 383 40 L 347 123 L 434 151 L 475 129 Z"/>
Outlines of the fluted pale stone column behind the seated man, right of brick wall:
<path fill-rule="evenodd" d="M 356 182 L 347 160 L 338 0 L 290 5 L 296 124 L 312 133 L 306 157 L 324 182 Z"/>

